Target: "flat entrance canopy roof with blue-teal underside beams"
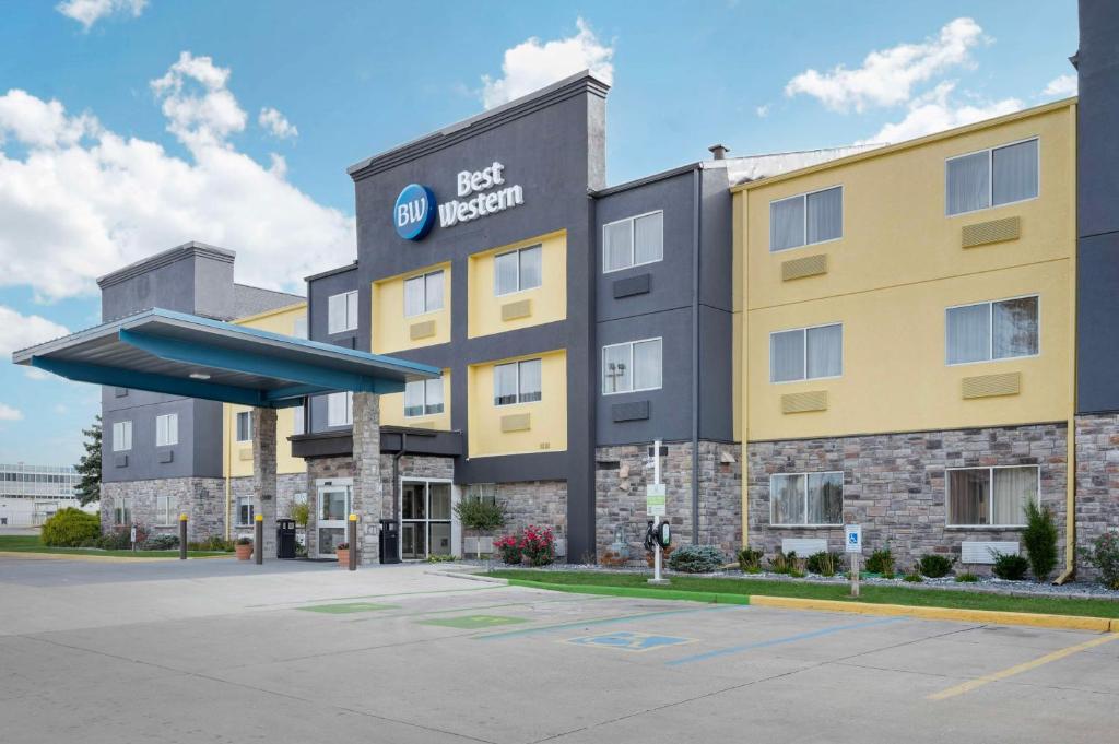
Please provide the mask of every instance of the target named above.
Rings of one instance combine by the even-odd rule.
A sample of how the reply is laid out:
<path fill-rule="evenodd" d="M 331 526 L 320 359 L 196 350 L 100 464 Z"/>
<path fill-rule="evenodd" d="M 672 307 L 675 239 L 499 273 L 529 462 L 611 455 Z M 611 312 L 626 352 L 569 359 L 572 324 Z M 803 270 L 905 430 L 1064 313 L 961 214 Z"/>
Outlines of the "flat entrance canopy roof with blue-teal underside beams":
<path fill-rule="evenodd" d="M 12 361 L 82 383 L 265 408 L 344 390 L 399 393 L 440 376 L 427 365 L 158 308 L 16 351 Z"/>

